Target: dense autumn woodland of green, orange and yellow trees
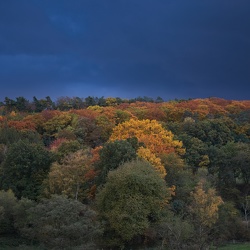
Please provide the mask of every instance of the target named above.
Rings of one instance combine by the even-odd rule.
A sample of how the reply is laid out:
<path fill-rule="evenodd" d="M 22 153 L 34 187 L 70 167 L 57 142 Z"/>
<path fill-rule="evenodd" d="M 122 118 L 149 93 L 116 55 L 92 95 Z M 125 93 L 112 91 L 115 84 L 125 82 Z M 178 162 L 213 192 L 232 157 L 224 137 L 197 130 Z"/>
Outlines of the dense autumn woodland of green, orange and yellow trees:
<path fill-rule="evenodd" d="M 250 101 L 6 97 L 0 189 L 12 249 L 249 241 Z"/>

